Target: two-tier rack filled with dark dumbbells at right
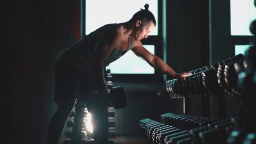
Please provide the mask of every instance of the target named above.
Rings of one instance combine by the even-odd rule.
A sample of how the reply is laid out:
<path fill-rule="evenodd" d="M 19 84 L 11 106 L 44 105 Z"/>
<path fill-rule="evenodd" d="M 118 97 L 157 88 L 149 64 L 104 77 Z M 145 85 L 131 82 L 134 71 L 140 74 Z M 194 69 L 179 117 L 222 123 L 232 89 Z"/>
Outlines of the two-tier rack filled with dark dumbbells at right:
<path fill-rule="evenodd" d="M 256 106 L 252 102 L 255 100 L 256 80 L 251 76 L 256 77 L 256 52 L 255 49 L 252 52 L 252 47 L 249 49 L 250 59 L 250 56 L 238 54 L 190 71 L 192 75 L 185 80 L 166 81 L 170 98 L 183 98 L 184 115 L 166 113 L 161 115 L 161 122 L 149 118 L 140 120 L 140 133 L 149 139 L 150 144 L 256 143 L 256 118 L 253 118 L 256 117 Z M 250 64 L 251 67 L 247 67 Z M 239 107 L 237 117 L 226 118 L 225 95 L 240 99 L 242 108 Z M 189 98 L 209 96 L 218 100 L 218 118 L 188 115 Z"/>

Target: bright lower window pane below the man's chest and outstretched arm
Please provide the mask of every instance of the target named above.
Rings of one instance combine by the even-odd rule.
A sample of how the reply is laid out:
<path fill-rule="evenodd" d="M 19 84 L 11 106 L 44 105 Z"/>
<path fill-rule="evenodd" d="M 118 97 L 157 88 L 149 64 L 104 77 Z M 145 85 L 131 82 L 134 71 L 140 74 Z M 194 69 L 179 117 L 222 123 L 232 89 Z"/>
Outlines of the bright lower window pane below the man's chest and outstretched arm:
<path fill-rule="evenodd" d="M 150 53 L 155 54 L 155 45 L 143 45 Z M 109 64 L 106 69 L 110 69 L 112 74 L 154 74 L 155 69 L 146 61 L 136 56 L 132 51 L 128 51 L 120 59 Z"/>

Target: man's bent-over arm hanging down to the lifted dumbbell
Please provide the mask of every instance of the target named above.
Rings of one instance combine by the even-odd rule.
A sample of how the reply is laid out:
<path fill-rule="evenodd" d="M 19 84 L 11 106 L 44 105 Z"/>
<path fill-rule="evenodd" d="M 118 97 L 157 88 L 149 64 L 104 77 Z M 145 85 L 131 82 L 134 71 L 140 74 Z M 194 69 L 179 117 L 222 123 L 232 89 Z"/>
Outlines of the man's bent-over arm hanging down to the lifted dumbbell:
<path fill-rule="evenodd" d="M 91 57 L 90 66 L 93 78 L 99 86 L 97 89 L 99 93 L 108 93 L 104 78 L 103 63 L 107 60 L 111 52 L 118 47 L 119 43 L 120 31 L 116 29 L 114 31 L 104 32 L 96 44 L 95 51 Z"/>

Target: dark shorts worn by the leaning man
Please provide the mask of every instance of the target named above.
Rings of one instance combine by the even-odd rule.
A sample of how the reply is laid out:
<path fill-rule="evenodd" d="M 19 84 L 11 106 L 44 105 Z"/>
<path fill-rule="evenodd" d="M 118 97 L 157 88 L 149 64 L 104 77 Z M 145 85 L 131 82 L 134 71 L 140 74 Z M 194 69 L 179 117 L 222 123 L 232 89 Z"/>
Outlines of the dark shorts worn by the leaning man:
<path fill-rule="evenodd" d="M 90 74 L 78 71 L 72 65 L 63 61 L 57 61 L 55 64 L 55 87 L 54 103 L 86 101 L 88 93 L 96 91 Z"/>

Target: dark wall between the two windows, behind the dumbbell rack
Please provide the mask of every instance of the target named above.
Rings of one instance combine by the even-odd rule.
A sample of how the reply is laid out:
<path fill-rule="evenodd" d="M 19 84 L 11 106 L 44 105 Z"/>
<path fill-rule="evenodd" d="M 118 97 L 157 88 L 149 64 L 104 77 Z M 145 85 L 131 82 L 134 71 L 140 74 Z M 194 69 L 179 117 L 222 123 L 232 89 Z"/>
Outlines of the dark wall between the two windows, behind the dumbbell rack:
<path fill-rule="evenodd" d="M 167 64 L 177 72 L 208 65 L 208 25 L 208 0 L 167 0 Z M 189 114 L 201 115 L 202 99 L 189 101 Z"/>

